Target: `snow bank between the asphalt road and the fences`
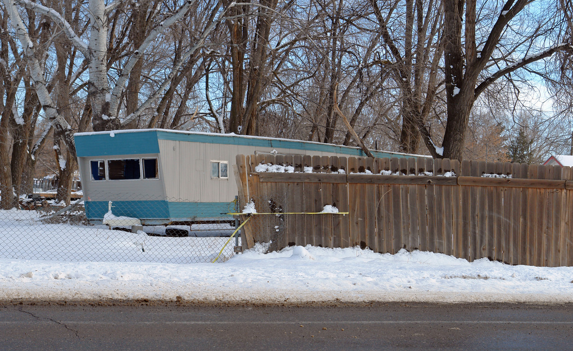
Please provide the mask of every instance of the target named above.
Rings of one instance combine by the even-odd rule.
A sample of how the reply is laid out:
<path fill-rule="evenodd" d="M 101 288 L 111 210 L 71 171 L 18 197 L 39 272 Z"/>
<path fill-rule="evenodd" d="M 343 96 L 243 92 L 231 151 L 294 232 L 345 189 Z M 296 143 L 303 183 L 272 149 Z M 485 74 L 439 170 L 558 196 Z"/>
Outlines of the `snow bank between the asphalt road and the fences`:
<path fill-rule="evenodd" d="M 359 248 L 255 251 L 225 263 L 0 259 L 0 301 L 573 302 L 573 267 L 469 263 L 430 252 Z"/>

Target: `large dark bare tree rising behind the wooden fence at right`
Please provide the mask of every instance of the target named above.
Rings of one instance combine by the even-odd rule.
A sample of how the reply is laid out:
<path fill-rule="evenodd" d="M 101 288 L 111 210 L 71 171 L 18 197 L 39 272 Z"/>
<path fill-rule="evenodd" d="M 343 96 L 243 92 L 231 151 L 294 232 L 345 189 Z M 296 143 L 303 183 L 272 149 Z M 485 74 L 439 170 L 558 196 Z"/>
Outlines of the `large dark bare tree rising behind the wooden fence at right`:
<path fill-rule="evenodd" d="M 534 4 L 538 7 L 524 10 Z M 563 14 L 556 3 L 508 0 L 501 8 L 480 5 L 477 9 L 476 0 L 444 0 L 448 119 L 441 156 L 446 158 L 461 159 L 470 111 L 490 84 L 519 69 L 543 73 L 537 61 L 571 49 L 558 35 Z"/>

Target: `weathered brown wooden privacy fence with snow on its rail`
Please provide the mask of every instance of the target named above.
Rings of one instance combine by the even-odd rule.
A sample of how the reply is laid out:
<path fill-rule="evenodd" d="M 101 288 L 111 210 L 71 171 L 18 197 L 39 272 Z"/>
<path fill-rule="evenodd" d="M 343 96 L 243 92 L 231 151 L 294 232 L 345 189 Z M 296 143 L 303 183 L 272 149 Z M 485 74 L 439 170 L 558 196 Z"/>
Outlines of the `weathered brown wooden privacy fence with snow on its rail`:
<path fill-rule="evenodd" d="M 292 166 L 295 173 L 257 172 L 261 163 Z M 252 200 L 257 212 L 284 213 L 253 215 L 244 248 L 272 240 L 272 249 L 360 245 L 391 254 L 405 248 L 470 261 L 573 266 L 569 167 L 238 155 L 235 171 L 241 209 Z M 324 205 L 349 215 L 299 214 L 321 212 Z"/>

